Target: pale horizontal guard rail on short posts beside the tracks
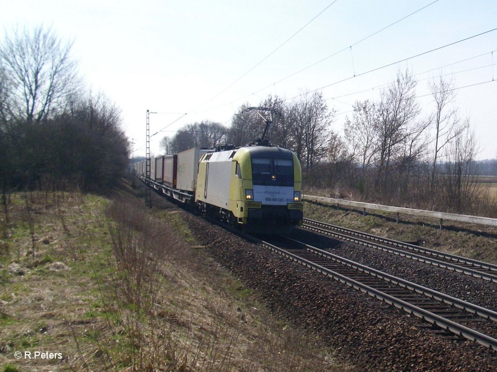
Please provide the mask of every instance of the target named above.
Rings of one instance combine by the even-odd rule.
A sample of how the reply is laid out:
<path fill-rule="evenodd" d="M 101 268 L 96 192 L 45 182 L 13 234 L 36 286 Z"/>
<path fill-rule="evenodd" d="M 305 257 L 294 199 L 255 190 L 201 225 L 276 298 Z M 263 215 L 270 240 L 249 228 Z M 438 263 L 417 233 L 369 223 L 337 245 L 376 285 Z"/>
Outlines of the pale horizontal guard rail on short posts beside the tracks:
<path fill-rule="evenodd" d="M 497 226 L 497 218 L 469 216 L 469 215 L 465 215 L 465 214 L 455 214 L 455 213 L 445 213 L 445 212 L 434 212 L 434 211 L 428 211 L 428 210 L 422 210 L 422 209 L 393 207 L 393 206 L 389 206 L 389 205 L 363 203 L 363 202 L 359 202 L 359 201 L 334 199 L 334 198 L 330 198 L 330 197 L 313 196 L 313 195 L 302 195 L 302 199 L 308 200 L 308 201 L 317 201 L 317 202 L 326 203 L 326 204 L 333 204 L 333 205 L 337 205 L 337 206 L 338 205 L 346 205 L 349 207 L 362 208 L 363 215 L 366 215 L 366 209 L 397 213 L 397 223 L 399 222 L 400 214 L 409 214 L 409 215 L 420 216 L 420 217 L 438 218 L 440 220 L 440 230 L 443 227 L 443 220 L 467 222 L 467 223 L 487 225 L 487 226 Z"/>

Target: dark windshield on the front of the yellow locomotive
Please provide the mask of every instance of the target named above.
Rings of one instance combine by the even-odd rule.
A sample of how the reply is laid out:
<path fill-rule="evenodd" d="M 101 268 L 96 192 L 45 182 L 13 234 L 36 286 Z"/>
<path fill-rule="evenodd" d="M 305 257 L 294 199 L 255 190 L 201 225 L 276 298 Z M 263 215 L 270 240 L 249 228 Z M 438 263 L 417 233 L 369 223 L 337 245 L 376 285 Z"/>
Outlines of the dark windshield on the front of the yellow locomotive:
<path fill-rule="evenodd" d="M 293 186 L 293 160 L 252 158 L 254 185 Z"/>

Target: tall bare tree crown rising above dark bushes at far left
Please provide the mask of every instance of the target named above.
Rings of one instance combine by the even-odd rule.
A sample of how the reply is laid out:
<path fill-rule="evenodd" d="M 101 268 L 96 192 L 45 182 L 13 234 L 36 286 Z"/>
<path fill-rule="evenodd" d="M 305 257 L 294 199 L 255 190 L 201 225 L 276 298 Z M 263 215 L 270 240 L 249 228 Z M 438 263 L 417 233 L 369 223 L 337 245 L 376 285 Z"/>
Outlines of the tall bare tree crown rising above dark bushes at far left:
<path fill-rule="evenodd" d="M 72 43 L 63 43 L 51 28 L 14 30 L 0 46 L 2 64 L 12 79 L 9 110 L 26 123 L 44 123 L 65 109 L 79 88 Z"/>

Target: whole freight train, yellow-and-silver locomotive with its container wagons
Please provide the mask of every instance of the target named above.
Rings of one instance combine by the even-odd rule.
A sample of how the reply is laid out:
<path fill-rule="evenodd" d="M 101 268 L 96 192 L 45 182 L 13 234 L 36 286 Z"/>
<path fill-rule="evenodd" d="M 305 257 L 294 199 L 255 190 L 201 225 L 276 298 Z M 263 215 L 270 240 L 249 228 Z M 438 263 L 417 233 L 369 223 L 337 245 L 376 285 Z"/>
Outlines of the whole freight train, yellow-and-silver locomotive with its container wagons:
<path fill-rule="evenodd" d="M 279 233 L 302 225 L 302 173 L 296 155 L 277 146 L 247 145 L 206 150 L 134 164 L 149 186 L 204 215 L 246 231 Z"/>

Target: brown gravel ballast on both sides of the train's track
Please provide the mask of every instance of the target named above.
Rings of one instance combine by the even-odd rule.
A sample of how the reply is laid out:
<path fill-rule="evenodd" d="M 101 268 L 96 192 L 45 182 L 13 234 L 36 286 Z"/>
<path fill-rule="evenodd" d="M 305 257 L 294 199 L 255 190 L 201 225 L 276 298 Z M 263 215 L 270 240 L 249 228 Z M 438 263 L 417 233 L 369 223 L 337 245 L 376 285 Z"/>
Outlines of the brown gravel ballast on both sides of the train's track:
<path fill-rule="evenodd" d="M 403 311 L 248 243 L 197 216 L 182 214 L 209 254 L 257 291 L 268 308 L 318 332 L 357 371 L 497 370 L 497 352 L 469 341 L 456 342 L 432 335 L 419 329 L 419 321 Z M 296 237 L 304 234 L 308 233 L 298 231 Z M 450 289 L 452 295 L 466 291 L 464 298 L 468 301 L 475 301 L 474 295 L 482 306 L 490 307 L 490 303 L 496 308 L 495 285 L 482 287 L 478 279 L 313 236 L 317 246 L 326 245 L 335 254 L 441 291 Z M 490 299 L 488 288 L 494 288 Z"/>

